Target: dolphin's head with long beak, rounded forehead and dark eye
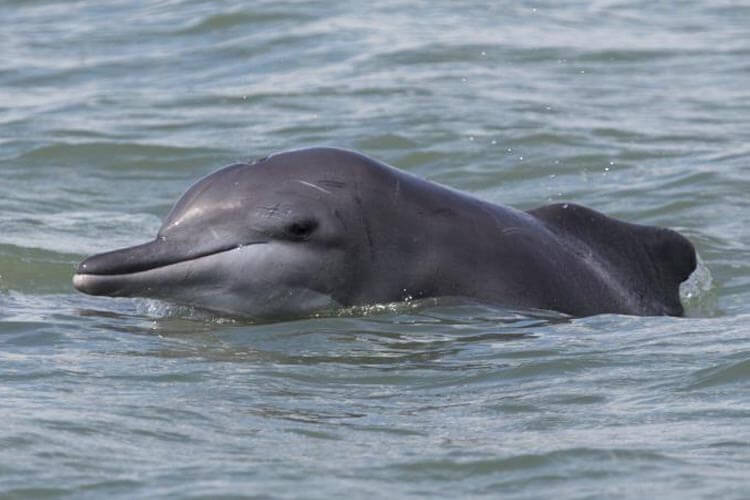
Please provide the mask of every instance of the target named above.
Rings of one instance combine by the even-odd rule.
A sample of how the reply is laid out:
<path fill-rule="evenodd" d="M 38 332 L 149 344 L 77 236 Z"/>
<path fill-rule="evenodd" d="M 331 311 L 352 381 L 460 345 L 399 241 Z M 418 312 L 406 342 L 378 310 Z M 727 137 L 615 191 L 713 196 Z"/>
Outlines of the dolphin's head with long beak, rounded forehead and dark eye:
<path fill-rule="evenodd" d="M 156 238 L 85 259 L 73 285 L 258 318 L 344 305 L 367 235 L 353 212 L 364 157 L 305 150 L 199 180 Z"/>

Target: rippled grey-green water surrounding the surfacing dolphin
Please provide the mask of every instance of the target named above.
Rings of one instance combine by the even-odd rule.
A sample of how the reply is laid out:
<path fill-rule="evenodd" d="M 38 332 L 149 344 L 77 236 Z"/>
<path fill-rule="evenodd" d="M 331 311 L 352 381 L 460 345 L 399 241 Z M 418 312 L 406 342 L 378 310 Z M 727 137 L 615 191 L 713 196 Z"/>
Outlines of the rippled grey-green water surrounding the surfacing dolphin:
<path fill-rule="evenodd" d="M 0 496 L 746 498 L 750 7 L 0 4 Z M 675 228 L 688 317 L 94 298 L 197 177 L 335 145 Z M 382 309 L 382 310 L 380 310 Z"/>

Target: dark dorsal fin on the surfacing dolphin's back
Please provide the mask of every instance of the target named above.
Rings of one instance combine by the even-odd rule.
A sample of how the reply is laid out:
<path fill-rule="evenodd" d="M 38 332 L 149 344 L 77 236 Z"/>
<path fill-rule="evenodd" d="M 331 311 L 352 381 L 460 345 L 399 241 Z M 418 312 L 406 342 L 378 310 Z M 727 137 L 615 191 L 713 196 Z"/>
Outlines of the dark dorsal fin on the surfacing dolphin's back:
<path fill-rule="evenodd" d="M 573 203 L 546 205 L 529 213 L 561 239 L 583 243 L 650 314 L 680 316 L 679 286 L 696 267 L 695 248 L 675 231 L 622 222 Z"/>

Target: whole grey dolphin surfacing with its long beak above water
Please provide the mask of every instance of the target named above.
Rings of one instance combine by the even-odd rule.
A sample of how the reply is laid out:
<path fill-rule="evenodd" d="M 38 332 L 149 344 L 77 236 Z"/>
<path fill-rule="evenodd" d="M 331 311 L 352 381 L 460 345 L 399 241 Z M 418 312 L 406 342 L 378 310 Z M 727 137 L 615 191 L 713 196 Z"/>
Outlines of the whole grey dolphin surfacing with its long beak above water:
<path fill-rule="evenodd" d="M 574 204 L 524 212 L 314 148 L 204 177 L 153 241 L 85 259 L 73 284 L 257 319 L 427 297 L 679 316 L 695 267 L 669 229 Z"/>

